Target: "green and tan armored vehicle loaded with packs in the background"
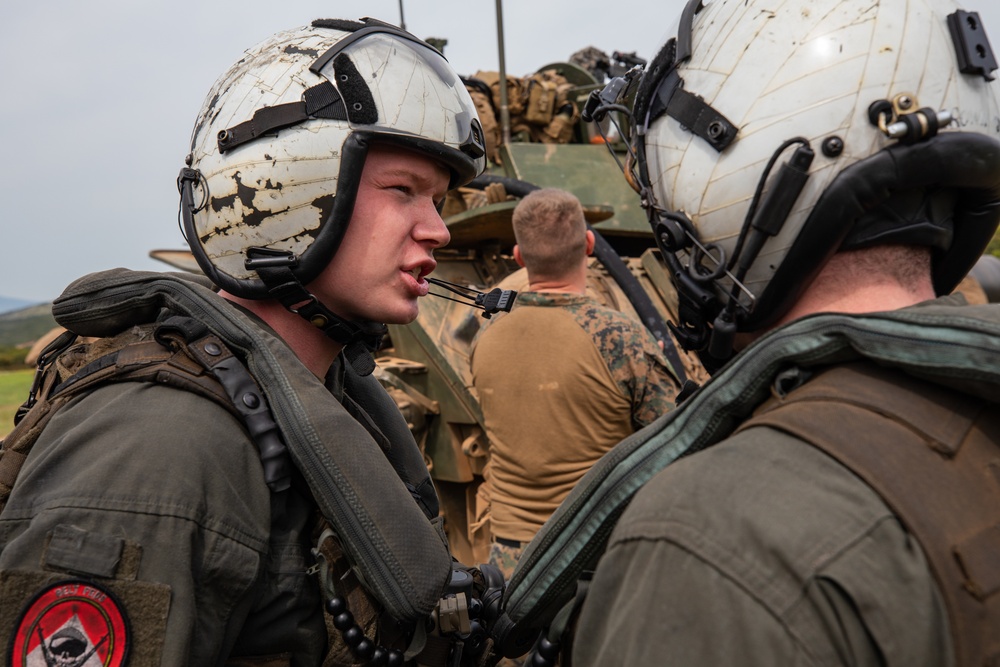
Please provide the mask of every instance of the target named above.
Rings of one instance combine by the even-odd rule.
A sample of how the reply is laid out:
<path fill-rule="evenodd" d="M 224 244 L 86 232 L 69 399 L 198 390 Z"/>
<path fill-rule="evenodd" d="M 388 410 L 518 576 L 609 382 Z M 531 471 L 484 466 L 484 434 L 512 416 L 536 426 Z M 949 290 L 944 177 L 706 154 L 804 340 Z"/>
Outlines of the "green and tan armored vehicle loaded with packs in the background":
<path fill-rule="evenodd" d="M 487 132 L 489 168 L 469 187 L 450 192 L 445 202 L 442 215 L 451 242 L 435 252 L 433 278 L 440 282 L 432 290 L 443 298 L 424 299 L 415 322 L 389 327 L 376 370 L 423 449 L 461 562 L 488 560 L 490 536 L 477 524 L 476 491 L 489 463 L 490 443 L 469 369 L 472 341 L 487 318 L 444 283 L 473 298 L 497 289 L 524 289 L 527 275 L 512 256 L 511 215 L 520 197 L 537 187 L 573 192 L 598 235 L 589 293 L 636 314 L 663 341 L 680 378 L 701 383 L 708 377 L 697 357 L 679 350 L 668 333 L 665 323 L 676 321 L 677 296 L 639 197 L 622 176 L 618 161 L 626 158 L 625 144 L 607 119 L 597 124 L 582 118 L 591 92 L 636 64 L 642 61 L 633 54 L 608 57 L 584 49 L 531 75 L 504 76 L 506 99 L 497 72 L 465 79 Z M 501 113 L 505 105 L 506 122 Z M 187 251 L 150 254 L 176 268 L 198 271 Z M 1000 298 L 998 266 L 1000 260 L 985 256 L 973 270 L 970 301 Z"/>

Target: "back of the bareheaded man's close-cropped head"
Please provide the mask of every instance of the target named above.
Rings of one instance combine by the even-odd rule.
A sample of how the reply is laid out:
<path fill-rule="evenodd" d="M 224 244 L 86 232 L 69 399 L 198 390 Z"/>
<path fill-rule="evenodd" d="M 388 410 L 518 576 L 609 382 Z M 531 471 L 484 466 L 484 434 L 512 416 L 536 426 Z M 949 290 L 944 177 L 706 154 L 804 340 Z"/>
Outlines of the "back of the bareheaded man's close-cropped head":
<path fill-rule="evenodd" d="M 534 190 L 514 208 L 514 238 L 530 276 L 562 277 L 587 256 L 580 200 L 557 188 Z"/>

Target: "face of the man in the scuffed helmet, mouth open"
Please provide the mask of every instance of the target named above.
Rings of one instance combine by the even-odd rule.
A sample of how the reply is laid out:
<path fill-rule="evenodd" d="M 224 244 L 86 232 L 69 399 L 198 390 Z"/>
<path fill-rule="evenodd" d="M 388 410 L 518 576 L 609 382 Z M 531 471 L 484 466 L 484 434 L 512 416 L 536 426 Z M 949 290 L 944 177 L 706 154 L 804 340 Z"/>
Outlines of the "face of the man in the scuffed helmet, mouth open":
<path fill-rule="evenodd" d="M 421 154 L 373 145 L 344 239 L 311 291 L 350 320 L 412 322 L 436 266 L 434 248 L 451 238 L 438 212 L 449 179 Z"/>

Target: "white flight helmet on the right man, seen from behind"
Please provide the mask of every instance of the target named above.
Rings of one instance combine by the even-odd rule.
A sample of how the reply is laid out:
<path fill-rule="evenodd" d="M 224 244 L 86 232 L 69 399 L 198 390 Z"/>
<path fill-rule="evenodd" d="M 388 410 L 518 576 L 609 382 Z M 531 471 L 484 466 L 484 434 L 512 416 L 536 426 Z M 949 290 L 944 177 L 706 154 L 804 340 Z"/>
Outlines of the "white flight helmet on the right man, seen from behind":
<path fill-rule="evenodd" d="M 635 91 L 631 173 L 682 344 L 774 323 L 838 249 L 931 246 L 953 289 L 1000 217 L 995 69 L 950 0 L 690 2 Z"/>

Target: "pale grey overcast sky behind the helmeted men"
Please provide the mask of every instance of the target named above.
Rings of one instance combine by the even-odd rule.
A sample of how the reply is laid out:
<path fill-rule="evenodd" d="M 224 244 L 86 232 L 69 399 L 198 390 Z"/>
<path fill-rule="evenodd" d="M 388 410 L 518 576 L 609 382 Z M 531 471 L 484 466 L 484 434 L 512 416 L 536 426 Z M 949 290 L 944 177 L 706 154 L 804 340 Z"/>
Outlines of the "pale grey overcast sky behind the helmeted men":
<path fill-rule="evenodd" d="M 650 58 L 683 5 L 505 0 L 507 71 L 586 46 Z M 1000 7 L 965 6 L 1000 51 Z M 0 3 L 0 295 L 45 302 L 91 271 L 166 270 L 148 253 L 184 247 L 175 179 L 216 77 L 277 30 L 362 16 L 399 24 L 399 0 Z M 447 39 L 460 74 L 497 69 L 495 0 L 404 0 L 402 19 Z"/>

